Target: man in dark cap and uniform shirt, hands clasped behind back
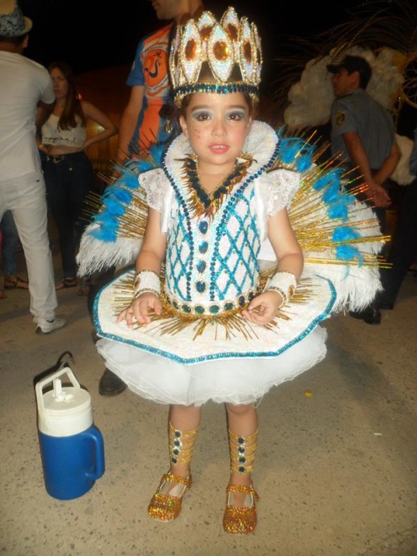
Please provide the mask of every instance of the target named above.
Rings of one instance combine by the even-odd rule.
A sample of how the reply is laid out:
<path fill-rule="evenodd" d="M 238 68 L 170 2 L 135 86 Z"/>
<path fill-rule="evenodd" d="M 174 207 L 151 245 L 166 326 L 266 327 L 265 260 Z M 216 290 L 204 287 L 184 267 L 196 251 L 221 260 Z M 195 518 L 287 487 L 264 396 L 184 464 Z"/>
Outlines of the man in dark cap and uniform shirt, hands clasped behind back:
<path fill-rule="evenodd" d="M 392 116 L 366 92 L 372 70 L 365 58 L 345 56 L 338 65 L 328 65 L 327 70 L 334 74 L 336 96 L 332 104 L 332 154 L 340 154 L 344 169 L 352 171 L 351 177 L 366 182 L 362 200 L 373 207 L 384 234 L 385 211 L 391 203 L 389 177 L 401 157 Z M 357 180 L 353 183 L 356 186 Z M 350 315 L 375 324 L 380 321 L 375 304 L 364 311 L 351 311 Z"/>

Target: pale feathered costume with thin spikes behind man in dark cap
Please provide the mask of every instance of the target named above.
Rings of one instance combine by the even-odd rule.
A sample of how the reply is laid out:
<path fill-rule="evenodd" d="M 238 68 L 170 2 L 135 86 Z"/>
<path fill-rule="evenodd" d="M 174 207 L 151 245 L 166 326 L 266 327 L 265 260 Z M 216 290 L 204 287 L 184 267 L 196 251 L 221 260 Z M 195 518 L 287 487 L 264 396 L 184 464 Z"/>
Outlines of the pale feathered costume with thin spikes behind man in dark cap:
<path fill-rule="evenodd" d="M 289 46 L 291 45 L 291 46 Z M 310 38 L 292 37 L 282 56 L 275 113 L 291 129 L 327 124 L 334 99 L 327 64 L 343 56 L 362 56 L 373 74 L 366 92 L 393 112 L 396 122 L 404 102 L 417 108 L 417 10 L 408 0 L 370 1 L 347 15 L 347 21 Z M 401 186 L 414 176 L 409 172 L 411 139 L 396 134 L 402 157 L 391 176 Z"/>

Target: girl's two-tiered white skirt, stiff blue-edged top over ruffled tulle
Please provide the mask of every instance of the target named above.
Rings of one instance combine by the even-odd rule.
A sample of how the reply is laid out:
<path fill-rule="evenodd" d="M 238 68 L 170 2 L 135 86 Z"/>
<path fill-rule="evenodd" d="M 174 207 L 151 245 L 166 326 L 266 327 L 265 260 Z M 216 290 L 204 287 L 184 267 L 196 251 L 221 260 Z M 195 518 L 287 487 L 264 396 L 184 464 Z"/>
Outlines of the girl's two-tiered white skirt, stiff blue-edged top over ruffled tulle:
<path fill-rule="evenodd" d="M 253 403 L 325 357 L 327 334 L 320 322 L 336 300 L 327 279 L 309 277 L 308 295 L 286 306 L 287 320 L 277 318 L 272 330 L 252 325 L 250 337 L 226 337 L 210 325 L 195 337 L 192 327 L 171 335 L 155 322 L 136 328 L 117 323 L 112 307 L 120 279 L 95 300 L 95 325 L 103 338 L 96 346 L 106 367 L 143 398 L 197 406 L 208 400 Z"/>

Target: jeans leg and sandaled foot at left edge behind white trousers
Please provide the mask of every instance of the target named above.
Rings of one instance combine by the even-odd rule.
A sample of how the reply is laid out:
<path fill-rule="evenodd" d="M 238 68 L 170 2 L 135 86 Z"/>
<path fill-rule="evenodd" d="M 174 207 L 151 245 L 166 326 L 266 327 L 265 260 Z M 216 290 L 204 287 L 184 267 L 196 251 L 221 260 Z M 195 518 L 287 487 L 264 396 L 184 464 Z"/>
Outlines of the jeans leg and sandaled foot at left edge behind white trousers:
<path fill-rule="evenodd" d="M 3 287 L 5 290 L 16 288 L 28 290 L 28 281 L 17 276 L 17 251 L 19 250 L 19 233 L 11 211 L 6 211 L 0 221 L 1 259 L 3 264 Z M 5 297 L 0 292 L 0 299 Z"/>

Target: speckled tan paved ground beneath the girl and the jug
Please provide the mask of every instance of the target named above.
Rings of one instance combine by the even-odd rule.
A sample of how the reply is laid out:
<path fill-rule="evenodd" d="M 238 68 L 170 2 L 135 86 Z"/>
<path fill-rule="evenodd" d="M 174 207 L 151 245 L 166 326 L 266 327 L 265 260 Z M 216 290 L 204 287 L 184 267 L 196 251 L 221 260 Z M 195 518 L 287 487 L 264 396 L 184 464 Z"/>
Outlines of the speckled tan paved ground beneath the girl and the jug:
<path fill-rule="evenodd" d="M 146 508 L 167 470 L 166 407 L 130 391 L 99 395 L 104 366 L 76 290 L 59 292 L 68 324 L 49 336 L 34 334 L 28 293 L 8 291 L 0 301 L 0 554 L 416 556 L 416 293 L 410 274 L 379 326 L 343 314 L 325 322 L 325 361 L 263 398 L 259 525 L 234 537 L 222 530 L 224 409 L 204 407 L 181 516 L 153 521 Z M 62 501 L 44 489 L 32 381 L 66 350 L 92 397 L 106 472 L 81 498 Z"/>

